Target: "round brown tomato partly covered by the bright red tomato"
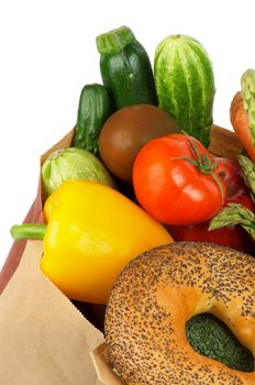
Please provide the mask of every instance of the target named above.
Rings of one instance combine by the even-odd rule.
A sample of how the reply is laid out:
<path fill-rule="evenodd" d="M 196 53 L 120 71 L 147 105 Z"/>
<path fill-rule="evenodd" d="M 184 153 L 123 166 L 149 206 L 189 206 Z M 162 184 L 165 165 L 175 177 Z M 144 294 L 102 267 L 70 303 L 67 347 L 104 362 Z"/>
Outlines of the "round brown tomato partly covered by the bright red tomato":
<path fill-rule="evenodd" d="M 179 131 L 175 119 L 158 107 L 124 107 L 114 112 L 101 130 L 100 156 L 114 176 L 132 183 L 134 160 L 143 145 L 155 138 Z"/>

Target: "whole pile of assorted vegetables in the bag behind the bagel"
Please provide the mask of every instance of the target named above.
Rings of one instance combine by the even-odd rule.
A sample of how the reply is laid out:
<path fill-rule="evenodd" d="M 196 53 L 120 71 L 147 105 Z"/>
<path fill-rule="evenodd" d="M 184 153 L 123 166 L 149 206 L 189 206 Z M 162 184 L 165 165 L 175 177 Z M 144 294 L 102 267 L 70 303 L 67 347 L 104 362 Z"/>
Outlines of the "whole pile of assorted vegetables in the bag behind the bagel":
<path fill-rule="evenodd" d="M 45 224 L 14 226 L 12 237 L 44 239 L 43 272 L 71 300 L 93 304 L 157 245 L 203 241 L 255 255 L 255 72 L 230 111 L 245 152 L 219 158 L 209 151 L 213 68 L 197 40 L 166 37 L 154 70 L 126 26 L 97 47 L 102 84 L 81 89 L 73 146 L 42 165 Z"/>

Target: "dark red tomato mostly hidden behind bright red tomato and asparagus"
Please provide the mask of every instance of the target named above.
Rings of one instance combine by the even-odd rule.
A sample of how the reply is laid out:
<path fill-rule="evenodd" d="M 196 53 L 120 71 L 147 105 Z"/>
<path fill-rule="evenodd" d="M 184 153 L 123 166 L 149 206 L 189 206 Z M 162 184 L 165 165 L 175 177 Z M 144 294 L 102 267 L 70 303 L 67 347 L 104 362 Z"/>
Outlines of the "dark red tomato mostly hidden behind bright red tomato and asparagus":
<path fill-rule="evenodd" d="M 242 170 L 237 162 L 223 157 L 215 158 L 218 167 L 215 172 L 223 179 L 226 187 L 226 201 L 236 202 L 255 211 L 248 190 L 242 177 Z M 206 241 L 229 246 L 239 251 L 251 253 L 254 249 L 252 238 L 240 227 L 225 227 L 208 231 L 209 221 L 196 226 L 171 226 L 168 230 L 175 241 Z"/>

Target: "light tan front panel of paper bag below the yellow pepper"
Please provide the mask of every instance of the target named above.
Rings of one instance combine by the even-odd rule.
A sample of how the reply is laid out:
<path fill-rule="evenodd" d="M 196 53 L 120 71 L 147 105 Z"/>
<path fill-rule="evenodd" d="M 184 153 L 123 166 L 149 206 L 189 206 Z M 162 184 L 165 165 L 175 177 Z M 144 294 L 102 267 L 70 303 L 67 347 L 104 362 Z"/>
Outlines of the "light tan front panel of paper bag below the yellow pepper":
<path fill-rule="evenodd" d="M 103 336 L 45 277 L 41 256 L 42 242 L 29 241 L 0 297 L 1 383 L 96 385 L 90 351 Z"/>

